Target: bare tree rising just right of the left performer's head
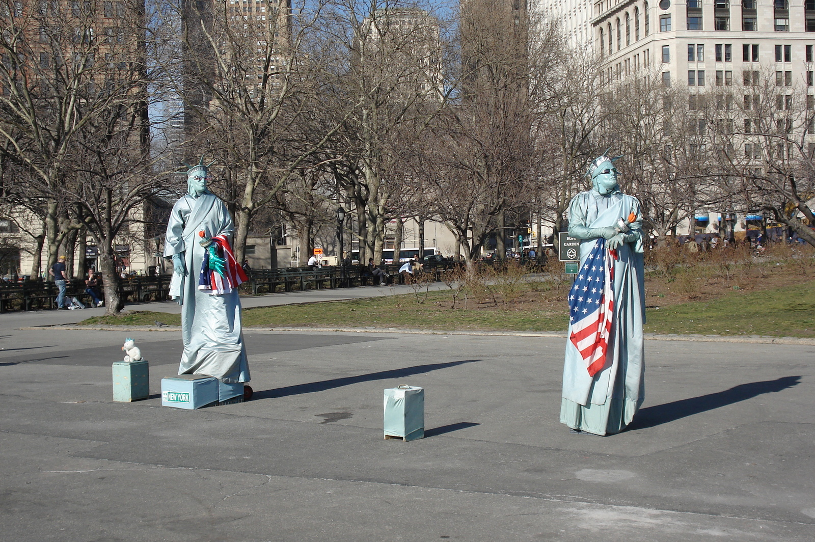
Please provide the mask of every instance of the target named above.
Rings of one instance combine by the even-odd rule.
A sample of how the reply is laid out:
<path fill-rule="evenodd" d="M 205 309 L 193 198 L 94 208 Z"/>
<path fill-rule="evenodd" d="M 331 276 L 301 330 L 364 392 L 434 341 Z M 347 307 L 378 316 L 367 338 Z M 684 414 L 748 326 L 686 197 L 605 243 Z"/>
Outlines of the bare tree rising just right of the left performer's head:
<path fill-rule="evenodd" d="M 253 216 L 314 166 L 345 119 L 341 112 L 326 124 L 315 114 L 334 84 L 326 77 L 333 47 L 322 33 L 326 3 L 223 2 L 185 15 L 187 77 L 178 94 L 191 112 L 187 154 L 205 152 L 222 165 L 237 258 Z"/>

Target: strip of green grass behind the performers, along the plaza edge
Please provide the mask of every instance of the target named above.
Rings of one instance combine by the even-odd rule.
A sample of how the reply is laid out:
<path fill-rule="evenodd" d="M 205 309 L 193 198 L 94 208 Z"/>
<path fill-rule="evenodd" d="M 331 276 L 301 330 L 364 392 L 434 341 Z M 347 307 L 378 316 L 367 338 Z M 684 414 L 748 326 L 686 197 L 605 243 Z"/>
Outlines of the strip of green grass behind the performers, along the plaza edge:
<path fill-rule="evenodd" d="M 769 267 L 768 267 L 769 268 Z M 744 280 L 708 280 L 701 271 L 683 270 L 688 284 L 678 279 L 645 281 L 645 333 L 703 335 L 766 335 L 815 337 L 815 280 L 778 267 Z M 740 272 L 740 271 L 739 271 Z M 698 275 L 698 276 L 697 276 Z M 716 280 L 716 278 L 712 279 Z M 704 289 L 699 284 L 704 285 Z M 545 287 L 544 287 L 545 286 Z M 452 290 L 372 297 L 342 302 L 268 306 L 243 311 L 245 328 L 371 328 L 430 329 L 436 331 L 553 331 L 567 326 L 565 293 L 557 284 L 513 286 L 503 293 L 469 287 L 469 295 L 452 297 Z M 738 289 L 735 289 L 738 288 Z M 522 292 L 521 292 L 522 290 Z M 426 295 L 425 295 L 426 294 Z M 659 308 L 657 308 L 659 306 Z M 86 319 L 84 325 L 180 325 L 181 316 L 134 311 L 122 316 Z"/>

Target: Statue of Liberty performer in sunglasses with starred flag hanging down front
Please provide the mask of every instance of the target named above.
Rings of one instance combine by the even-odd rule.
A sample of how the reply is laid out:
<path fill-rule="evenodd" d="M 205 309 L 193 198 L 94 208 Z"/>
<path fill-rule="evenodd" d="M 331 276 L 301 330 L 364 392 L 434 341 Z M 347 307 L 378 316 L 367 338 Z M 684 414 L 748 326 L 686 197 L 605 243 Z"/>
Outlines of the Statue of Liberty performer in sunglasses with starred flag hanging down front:
<path fill-rule="evenodd" d="M 561 422 L 573 432 L 619 433 L 645 399 L 642 213 L 617 184 L 620 157 L 595 159 L 587 172 L 592 189 L 569 206 L 569 235 L 581 241 L 569 292 Z"/>

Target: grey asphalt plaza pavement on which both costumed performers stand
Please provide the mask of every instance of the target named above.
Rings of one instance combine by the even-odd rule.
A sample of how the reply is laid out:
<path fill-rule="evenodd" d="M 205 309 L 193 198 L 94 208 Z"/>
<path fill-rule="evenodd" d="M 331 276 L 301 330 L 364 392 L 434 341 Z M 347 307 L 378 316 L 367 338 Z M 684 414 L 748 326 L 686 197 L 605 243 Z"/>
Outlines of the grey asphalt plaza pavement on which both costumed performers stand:
<path fill-rule="evenodd" d="M 0 315 L 2 540 L 815 540 L 815 346 L 646 341 L 603 438 L 558 422 L 563 338 L 252 330 L 253 399 L 186 411 L 180 332 L 58 328 L 102 312 Z M 129 336 L 151 397 L 113 403 Z M 400 384 L 424 439 L 382 438 Z"/>

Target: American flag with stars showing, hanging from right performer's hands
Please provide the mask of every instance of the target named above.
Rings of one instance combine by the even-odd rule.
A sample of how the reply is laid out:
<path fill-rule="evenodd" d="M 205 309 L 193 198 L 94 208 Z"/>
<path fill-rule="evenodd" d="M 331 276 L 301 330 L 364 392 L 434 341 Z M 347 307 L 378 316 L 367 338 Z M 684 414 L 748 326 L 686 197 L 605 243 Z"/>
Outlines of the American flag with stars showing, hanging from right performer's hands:
<path fill-rule="evenodd" d="M 605 239 L 598 239 L 569 292 L 569 340 L 583 356 L 592 377 L 606 367 L 614 315 L 615 255 L 615 251 L 606 250 Z"/>

